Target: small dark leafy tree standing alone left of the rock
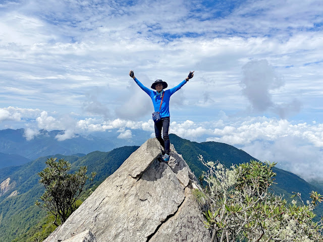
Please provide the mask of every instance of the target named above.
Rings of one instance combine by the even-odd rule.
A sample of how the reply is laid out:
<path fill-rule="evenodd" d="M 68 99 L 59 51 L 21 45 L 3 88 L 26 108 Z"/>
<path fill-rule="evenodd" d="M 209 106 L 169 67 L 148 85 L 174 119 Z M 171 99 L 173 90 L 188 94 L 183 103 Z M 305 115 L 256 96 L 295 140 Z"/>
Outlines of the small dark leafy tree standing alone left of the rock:
<path fill-rule="evenodd" d="M 64 223 L 68 216 L 76 209 L 76 201 L 84 193 L 84 185 L 89 178 L 86 175 L 87 167 L 82 166 L 75 173 L 67 173 L 71 164 L 65 159 L 49 158 L 45 162 L 47 167 L 40 171 L 39 182 L 46 189 L 36 201 L 36 205 L 55 216 L 53 224 L 58 224 L 58 218 Z M 95 172 L 91 173 L 92 180 Z"/>

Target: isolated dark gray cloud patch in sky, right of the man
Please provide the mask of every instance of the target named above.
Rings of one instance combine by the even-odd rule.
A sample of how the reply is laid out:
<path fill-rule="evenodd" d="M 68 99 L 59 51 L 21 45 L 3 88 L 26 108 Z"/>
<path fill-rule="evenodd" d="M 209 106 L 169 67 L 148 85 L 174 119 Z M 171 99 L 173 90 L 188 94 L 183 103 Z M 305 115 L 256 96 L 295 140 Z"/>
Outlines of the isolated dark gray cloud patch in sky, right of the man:
<path fill-rule="evenodd" d="M 300 110 L 300 102 L 297 99 L 283 104 L 273 102 L 272 91 L 284 86 L 285 83 L 267 60 L 250 61 L 242 69 L 243 79 L 240 83 L 242 93 L 248 98 L 254 111 L 263 112 L 272 109 L 281 118 L 285 118 L 288 114 Z"/>

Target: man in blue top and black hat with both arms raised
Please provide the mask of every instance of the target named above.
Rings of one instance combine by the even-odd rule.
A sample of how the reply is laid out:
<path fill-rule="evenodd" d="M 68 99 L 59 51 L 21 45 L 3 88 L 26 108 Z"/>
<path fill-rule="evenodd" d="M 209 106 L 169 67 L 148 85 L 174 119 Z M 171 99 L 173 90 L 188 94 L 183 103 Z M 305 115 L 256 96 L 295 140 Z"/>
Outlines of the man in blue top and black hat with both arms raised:
<path fill-rule="evenodd" d="M 168 86 L 166 82 L 164 82 L 163 80 L 156 80 L 151 85 L 151 88 L 156 91 L 150 90 L 149 88 L 142 85 L 142 83 L 139 82 L 137 78 L 135 78 L 135 75 L 131 70 L 129 72 L 129 76 L 132 77 L 133 80 L 138 84 L 138 86 L 150 96 L 155 112 L 158 112 L 160 115 L 160 119 L 157 122 L 155 121 L 155 135 L 161 146 L 163 146 L 165 149 L 163 159 L 165 161 L 169 161 L 170 139 L 168 132 L 170 127 L 170 98 L 176 91 L 180 90 L 181 87 L 189 81 L 189 79 L 193 78 L 194 71 L 190 72 L 188 74 L 188 77 L 185 78 L 185 80 L 179 85 L 168 90 L 164 90 Z M 162 130 L 163 138 L 161 138 Z"/>

